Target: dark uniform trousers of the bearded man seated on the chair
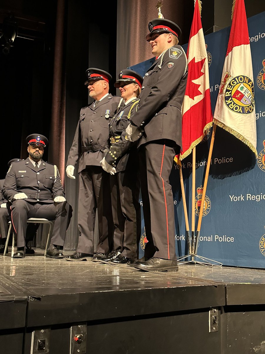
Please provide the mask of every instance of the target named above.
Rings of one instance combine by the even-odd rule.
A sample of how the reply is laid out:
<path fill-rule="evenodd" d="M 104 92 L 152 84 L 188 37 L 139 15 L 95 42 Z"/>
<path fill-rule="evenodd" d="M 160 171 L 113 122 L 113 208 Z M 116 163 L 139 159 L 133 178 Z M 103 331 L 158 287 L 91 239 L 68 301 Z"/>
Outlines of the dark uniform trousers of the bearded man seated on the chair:
<path fill-rule="evenodd" d="M 12 203 L 11 210 L 11 221 L 17 234 L 17 247 L 25 246 L 28 218 L 55 220 L 51 244 L 64 245 L 66 230 L 72 217 L 72 207 L 68 202 L 44 204 L 19 199 Z"/>

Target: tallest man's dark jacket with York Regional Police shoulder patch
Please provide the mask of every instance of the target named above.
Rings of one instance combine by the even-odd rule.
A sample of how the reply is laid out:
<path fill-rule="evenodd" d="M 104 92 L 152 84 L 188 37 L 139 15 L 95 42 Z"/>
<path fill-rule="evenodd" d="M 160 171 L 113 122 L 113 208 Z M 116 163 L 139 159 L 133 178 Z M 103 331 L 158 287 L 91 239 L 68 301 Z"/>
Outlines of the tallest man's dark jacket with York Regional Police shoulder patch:
<path fill-rule="evenodd" d="M 181 107 L 188 76 L 187 57 L 181 46 L 167 49 L 145 74 L 139 109 L 131 122 L 144 130 L 139 145 L 170 139 L 179 146 Z"/>

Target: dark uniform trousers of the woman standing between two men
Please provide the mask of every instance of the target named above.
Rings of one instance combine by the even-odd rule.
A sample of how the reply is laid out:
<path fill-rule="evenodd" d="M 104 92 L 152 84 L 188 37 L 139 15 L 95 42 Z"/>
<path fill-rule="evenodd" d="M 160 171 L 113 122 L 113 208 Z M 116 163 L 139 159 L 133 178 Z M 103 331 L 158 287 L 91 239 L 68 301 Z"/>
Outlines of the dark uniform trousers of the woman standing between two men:
<path fill-rule="evenodd" d="M 140 179 L 134 171 L 110 176 L 111 205 L 114 222 L 113 250 L 127 258 L 137 258 L 141 237 Z"/>

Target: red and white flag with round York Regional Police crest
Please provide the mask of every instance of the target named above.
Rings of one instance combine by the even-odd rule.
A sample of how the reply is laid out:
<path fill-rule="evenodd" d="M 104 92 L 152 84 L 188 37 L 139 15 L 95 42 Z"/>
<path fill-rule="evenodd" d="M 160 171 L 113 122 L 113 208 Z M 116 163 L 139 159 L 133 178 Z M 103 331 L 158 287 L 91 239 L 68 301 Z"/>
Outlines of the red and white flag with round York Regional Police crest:
<path fill-rule="evenodd" d="M 244 0 L 234 0 L 232 26 L 214 123 L 230 132 L 257 155 L 254 82 Z"/>

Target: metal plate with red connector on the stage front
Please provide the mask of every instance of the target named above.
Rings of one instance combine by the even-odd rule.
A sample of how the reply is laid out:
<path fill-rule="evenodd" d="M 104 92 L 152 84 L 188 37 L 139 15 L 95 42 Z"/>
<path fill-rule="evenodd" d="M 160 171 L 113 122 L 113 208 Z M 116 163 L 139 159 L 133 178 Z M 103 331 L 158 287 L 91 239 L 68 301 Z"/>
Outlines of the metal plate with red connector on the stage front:
<path fill-rule="evenodd" d="M 86 354 L 87 324 L 72 326 L 70 329 L 70 354 Z"/>

